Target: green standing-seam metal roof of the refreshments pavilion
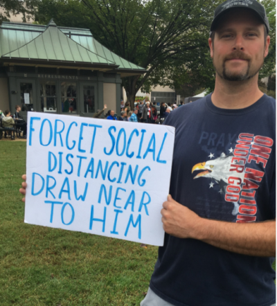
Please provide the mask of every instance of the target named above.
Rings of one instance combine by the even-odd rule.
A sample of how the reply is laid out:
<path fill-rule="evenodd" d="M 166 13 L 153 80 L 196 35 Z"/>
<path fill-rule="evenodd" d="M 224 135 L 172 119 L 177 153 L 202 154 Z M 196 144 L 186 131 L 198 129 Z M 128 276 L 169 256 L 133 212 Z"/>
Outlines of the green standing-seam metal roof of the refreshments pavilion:
<path fill-rule="evenodd" d="M 111 65 L 126 73 L 145 69 L 128 62 L 93 38 L 89 29 L 3 22 L 0 27 L 0 55 L 6 59 L 54 60 Z"/>

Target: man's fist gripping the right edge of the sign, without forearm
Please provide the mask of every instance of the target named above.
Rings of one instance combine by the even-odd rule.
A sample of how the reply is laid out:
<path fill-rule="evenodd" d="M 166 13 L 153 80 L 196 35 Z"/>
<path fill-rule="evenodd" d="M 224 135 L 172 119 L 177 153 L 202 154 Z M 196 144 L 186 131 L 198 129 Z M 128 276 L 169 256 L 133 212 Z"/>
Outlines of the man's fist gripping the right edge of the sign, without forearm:
<path fill-rule="evenodd" d="M 200 218 L 192 210 L 179 204 L 168 195 L 168 201 L 163 202 L 161 221 L 166 233 L 179 238 L 193 238 L 195 226 Z"/>

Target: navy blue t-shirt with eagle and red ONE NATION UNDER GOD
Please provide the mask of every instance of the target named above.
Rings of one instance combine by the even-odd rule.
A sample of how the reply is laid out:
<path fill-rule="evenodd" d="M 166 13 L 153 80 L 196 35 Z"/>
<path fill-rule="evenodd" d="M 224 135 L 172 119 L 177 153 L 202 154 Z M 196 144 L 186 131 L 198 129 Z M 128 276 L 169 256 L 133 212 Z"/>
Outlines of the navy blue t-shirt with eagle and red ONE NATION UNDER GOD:
<path fill-rule="evenodd" d="M 209 95 L 172 111 L 173 199 L 208 219 L 275 219 L 275 111 L 266 95 L 245 109 L 220 109 Z M 176 306 L 269 306 L 273 261 L 166 234 L 150 287 Z"/>

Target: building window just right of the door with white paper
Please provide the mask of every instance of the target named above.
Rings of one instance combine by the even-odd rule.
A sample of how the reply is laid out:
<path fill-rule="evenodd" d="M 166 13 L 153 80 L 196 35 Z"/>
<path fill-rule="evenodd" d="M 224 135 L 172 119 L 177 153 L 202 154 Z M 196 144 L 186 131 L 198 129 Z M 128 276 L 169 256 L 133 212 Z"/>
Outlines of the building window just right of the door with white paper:
<path fill-rule="evenodd" d="M 40 104 L 42 111 L 57 112 L 55 81 L 40 82 Z"/>

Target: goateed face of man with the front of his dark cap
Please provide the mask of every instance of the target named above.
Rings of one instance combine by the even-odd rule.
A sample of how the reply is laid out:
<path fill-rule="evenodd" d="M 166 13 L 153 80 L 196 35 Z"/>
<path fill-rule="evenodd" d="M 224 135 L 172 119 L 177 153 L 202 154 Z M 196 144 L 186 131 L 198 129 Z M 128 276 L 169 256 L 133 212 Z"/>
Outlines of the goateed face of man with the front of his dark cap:
<path fill-rule="evenodd" d="M 264 25 L 250 10 L 231 10 L 219 21 L 212 43 L 211 57 L 220 78 L 229 81 L 249 80 L 258 73 L 268 54 Z"/>

